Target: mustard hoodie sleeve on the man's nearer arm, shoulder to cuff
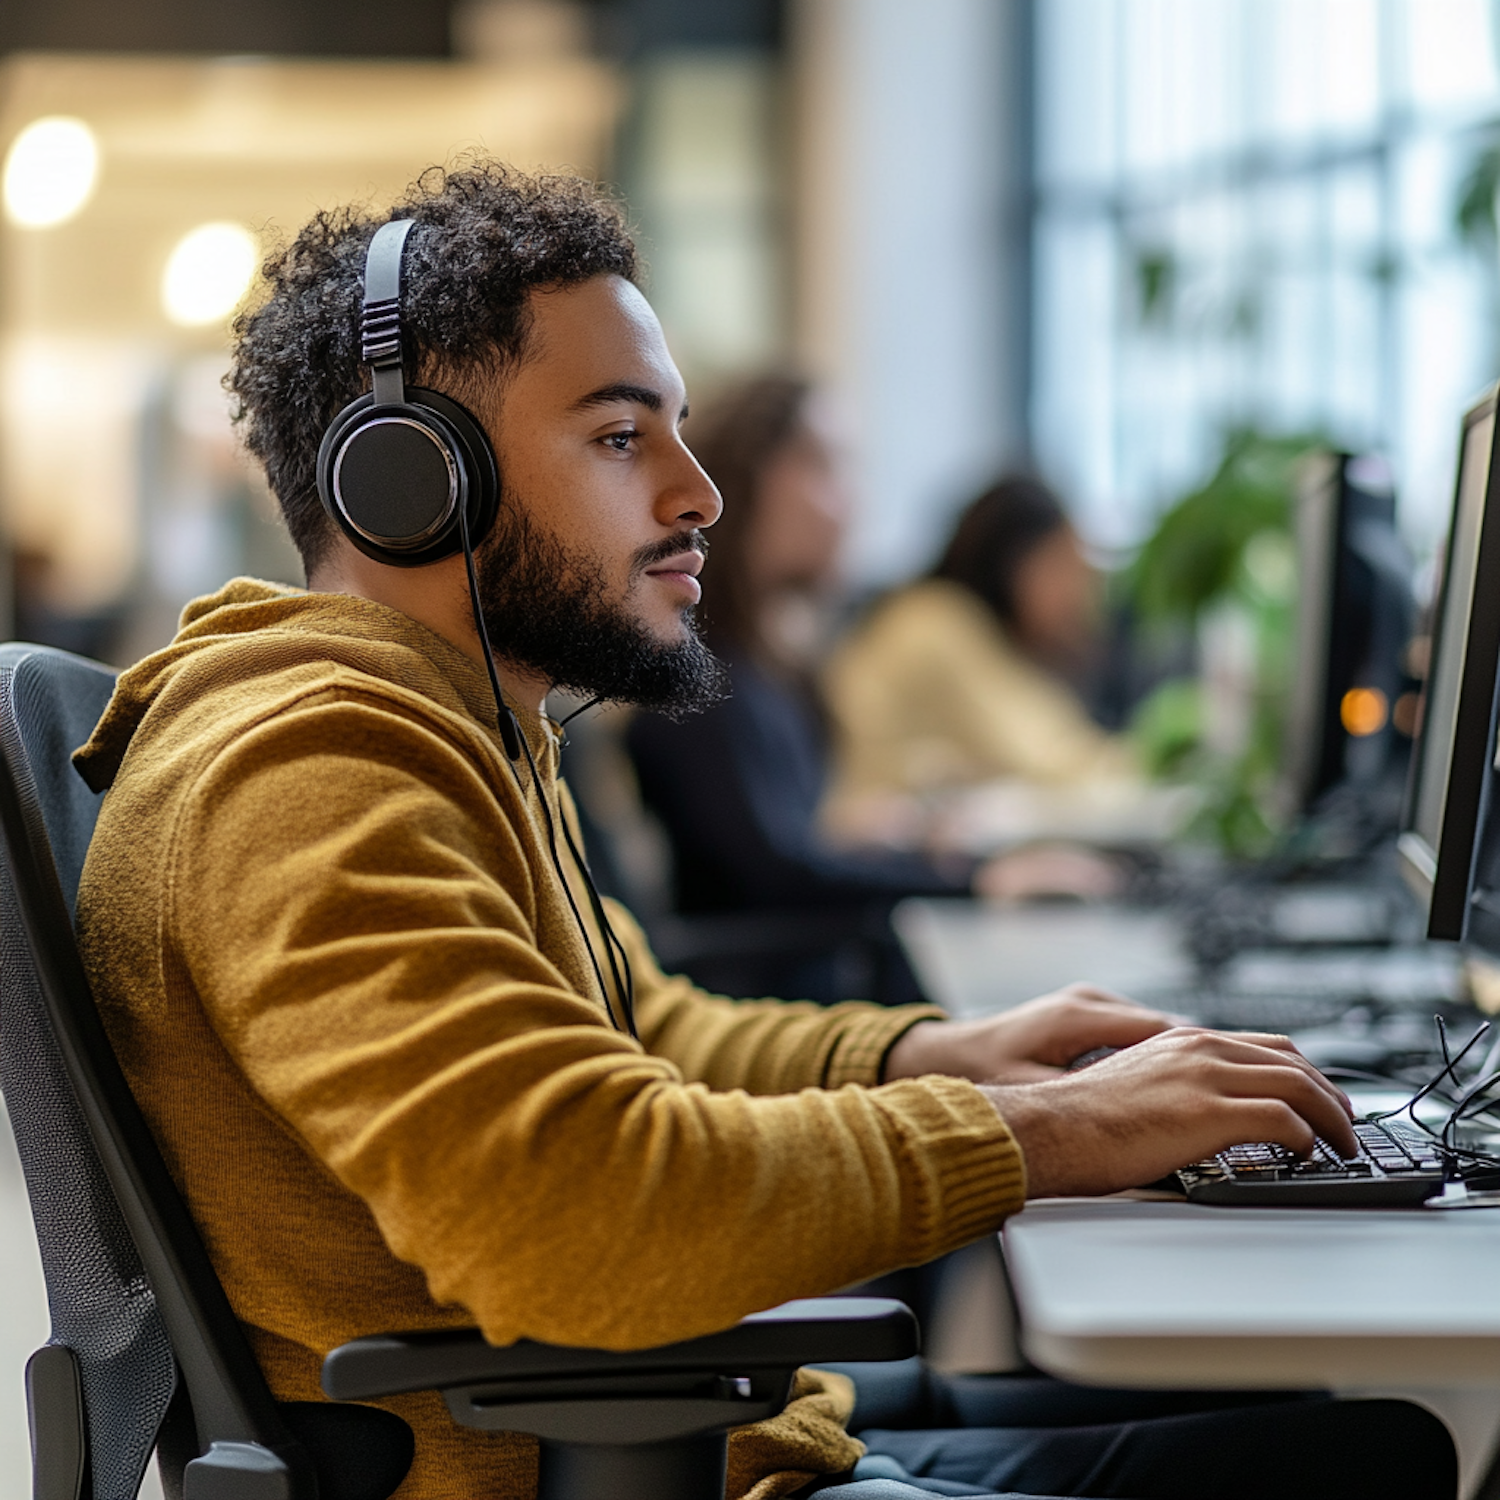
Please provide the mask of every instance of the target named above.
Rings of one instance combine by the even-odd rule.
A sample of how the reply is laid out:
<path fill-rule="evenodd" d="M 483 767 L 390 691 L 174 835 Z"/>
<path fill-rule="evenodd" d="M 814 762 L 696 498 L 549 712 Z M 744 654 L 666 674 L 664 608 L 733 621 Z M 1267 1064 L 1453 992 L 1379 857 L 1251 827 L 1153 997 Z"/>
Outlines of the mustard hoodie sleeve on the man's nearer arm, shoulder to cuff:
<path fill-rule="evenodd" d="M 690 1082 L 674 1056 L 716 1083 L 735 1068 L 712 1046 L 694 1062 L 684 1018 L 728 1002 L 681 993 L 644 1006 L 663 1054 L 612 1030 L 546 956 L 564 936 L 537 838 L 440 728 L 330 693 L 220 750 L 170 844 L 166 962 L 434 1298 L 500 1344 L 640 1347 L 932 1258 L 1020 1206 L 1020 1154 L 969 1083 Z"/>

